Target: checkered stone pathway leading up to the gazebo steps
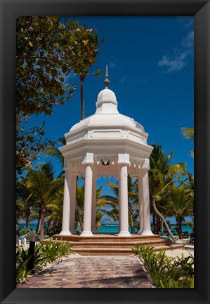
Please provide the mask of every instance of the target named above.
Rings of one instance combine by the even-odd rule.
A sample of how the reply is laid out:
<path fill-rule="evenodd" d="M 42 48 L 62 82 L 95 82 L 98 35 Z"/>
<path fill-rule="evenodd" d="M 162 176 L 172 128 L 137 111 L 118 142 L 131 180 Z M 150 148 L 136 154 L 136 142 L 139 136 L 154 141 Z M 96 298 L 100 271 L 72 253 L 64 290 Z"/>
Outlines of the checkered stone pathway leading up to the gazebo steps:
<path fill-rule="evenodd" d="M 137 257 L 72 257 L 29 277 L 17 288 L 152 288 Z"/>

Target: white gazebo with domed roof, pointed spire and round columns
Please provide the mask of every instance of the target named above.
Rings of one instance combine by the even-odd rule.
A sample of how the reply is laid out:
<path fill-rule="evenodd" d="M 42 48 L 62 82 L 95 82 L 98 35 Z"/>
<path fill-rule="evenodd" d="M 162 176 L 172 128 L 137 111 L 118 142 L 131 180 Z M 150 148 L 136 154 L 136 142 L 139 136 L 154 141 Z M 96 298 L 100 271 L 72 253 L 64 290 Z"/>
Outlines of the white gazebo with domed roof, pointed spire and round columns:
<path fill-rule="evenodd" d="M 105 89 L 100 91 L 96 113 L 74 125 L 65 134 L 66 145 L 60 147 L 64 157 L 65 186 L 61 235 L 75 232 L 77 176 L 83 174 L 84 229 L 81 236 L 96 233 L 96 178 L 114 176 L 119 182 L 119 234 L 131 236 L 128 217 L 128 174 L 138 177 L 139 231 L 152 235 L 150 228 L 150 197 L 148 170 L 152 147 L 147 145 L 148 133 L 128 116 L 119 114 L 117 99 L 108 88 L 106 68 Z M 132 102 L 132 101 L 129 101 Z"/>

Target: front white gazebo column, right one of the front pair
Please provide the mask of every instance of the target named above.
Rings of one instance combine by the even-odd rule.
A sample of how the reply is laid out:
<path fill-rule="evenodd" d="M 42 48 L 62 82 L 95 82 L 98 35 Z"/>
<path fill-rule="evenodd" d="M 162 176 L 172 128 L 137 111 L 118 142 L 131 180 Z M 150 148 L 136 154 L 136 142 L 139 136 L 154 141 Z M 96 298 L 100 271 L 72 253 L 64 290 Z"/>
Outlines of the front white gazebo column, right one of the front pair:
<path fill-rule="evenodd" d="M 121 165 L 119 178 L 120 231 L 118 236 L 131 236 L 129 233 L 128 169 L 126 164 Z"/>

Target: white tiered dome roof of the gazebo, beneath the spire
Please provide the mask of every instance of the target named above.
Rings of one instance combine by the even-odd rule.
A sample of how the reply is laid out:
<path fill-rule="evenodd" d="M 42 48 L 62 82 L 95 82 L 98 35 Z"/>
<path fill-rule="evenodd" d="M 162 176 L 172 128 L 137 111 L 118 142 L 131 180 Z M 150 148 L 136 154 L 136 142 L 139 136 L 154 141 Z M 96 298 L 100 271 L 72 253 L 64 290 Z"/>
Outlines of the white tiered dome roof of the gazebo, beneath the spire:
<path fill-rule="evenodd" d="M 108 128 L 108 133 L 105 132 L 105 128 Z M 114 129 L 122 130 L 122 132 L 114 131 Z M 101 129 L 103 133 L 100 133 L 100 138 L 109 139 L 129 139 L 143 144 L 147 143 L 148 134 L 145 132 L 143 126 L 140 123 L 134 121 L 133 118 L 120 114 L 117 109 L 117 99 L 114 92 L 107 87 L 100 91 L 96 102 L 96 113 L 84 118 L 79 123 L 76 123 L 70 129 L 70 132 L 65 134 L 67 144 L 70 144 L 74 140 L 74 134 L 77 133 L 77 140 L 79 139 L 79 133 L 82 138 L 88 136 L 88 131 L 96 130 L 99 132 Z M 112 131 L 111 131 L 111 130 Z M 97 132 L 88 136 L 89 140 L 94 140 Z M 135 134 L 134 134 L 135 133 Z M 114 135 L 115 134 L 115 135 Z M 99 136 L 99 135 L 98 135 Z M 97 136 L 97 138 L 99 138 Z"/>

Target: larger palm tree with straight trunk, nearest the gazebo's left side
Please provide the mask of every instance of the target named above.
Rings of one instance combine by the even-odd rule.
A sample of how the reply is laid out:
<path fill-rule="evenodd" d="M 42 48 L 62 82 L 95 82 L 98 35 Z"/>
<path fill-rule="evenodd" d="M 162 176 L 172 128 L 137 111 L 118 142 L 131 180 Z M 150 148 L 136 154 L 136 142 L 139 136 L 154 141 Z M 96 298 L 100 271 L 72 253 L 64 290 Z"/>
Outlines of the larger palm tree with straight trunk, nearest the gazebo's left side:
<path fill-rule="evenodd" d="M 63 178 L 54 179 L 51 162 L 38 164 L 38 170 L 30 168 L 27 173 L 27 187 L 32 191 L 34 200 L 39 206 L 41 222 L 41 238 L 44 238 L 44 220 L 46 219 L 48 205 L 56 198 L 56 193 L 63 188 Z"/>

